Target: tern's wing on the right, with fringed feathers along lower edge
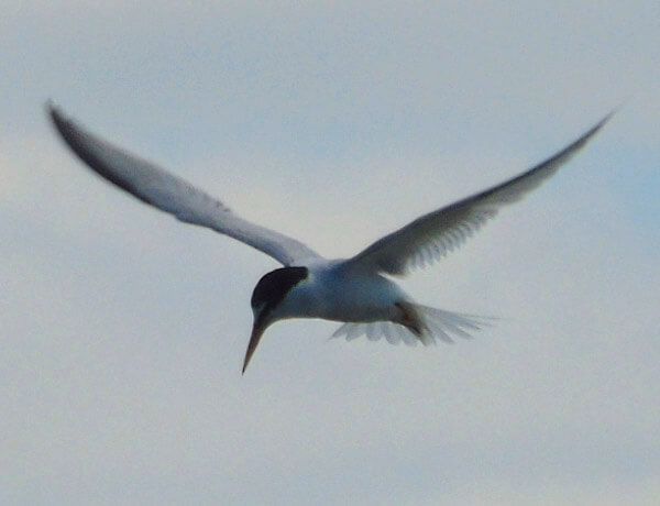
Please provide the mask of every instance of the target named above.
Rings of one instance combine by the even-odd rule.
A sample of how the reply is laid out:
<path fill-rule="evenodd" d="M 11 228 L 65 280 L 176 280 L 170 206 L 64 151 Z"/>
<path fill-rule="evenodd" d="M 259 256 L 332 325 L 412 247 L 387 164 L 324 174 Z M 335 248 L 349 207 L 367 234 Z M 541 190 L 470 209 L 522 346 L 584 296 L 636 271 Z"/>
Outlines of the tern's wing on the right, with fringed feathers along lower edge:
<path fill-rule="evenodd" d="M 346 266 L 402 275 L 458 248 L 503 206 L 517 202 L 552 176 L 609 120 L 607 114 L 559 153 L 505 183 L 425 215 L 345 261 Z"/>

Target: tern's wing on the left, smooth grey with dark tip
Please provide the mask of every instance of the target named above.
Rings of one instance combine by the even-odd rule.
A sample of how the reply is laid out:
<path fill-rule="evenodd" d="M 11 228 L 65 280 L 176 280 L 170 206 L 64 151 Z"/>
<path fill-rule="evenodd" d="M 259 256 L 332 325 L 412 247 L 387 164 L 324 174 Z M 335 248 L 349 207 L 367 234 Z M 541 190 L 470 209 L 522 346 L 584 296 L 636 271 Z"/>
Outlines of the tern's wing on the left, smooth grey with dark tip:
<path fill-rule="evenodd" d="M 143 202 L 186 223 L 208 227 L 242 241 L 284 265 L 320 258 L 301 242 L 234 215 L 221 201 L 184 179 L 88 132 L 58 108 L 48 105 L 48 113 L 62 139 L 82 162 Z"/>

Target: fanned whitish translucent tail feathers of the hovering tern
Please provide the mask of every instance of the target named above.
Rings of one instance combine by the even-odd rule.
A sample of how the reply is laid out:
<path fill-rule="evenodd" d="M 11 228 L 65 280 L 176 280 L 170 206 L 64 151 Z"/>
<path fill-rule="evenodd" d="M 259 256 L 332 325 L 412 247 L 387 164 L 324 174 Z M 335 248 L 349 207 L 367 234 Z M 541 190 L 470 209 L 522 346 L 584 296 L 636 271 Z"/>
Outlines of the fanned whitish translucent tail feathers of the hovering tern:
<path fill-rule="evenodd" d="M 454 343 L 454 338 L 471 339 L 472 332 L 493 324 L 496 318 L 461 312 L 447 311 L 418 304 L 411 304 L 417 316 L 421 319 L 421 334 L 416 336 L 407 327 L 392 321 L 372 321 L 364 323 L 346 322 L 332 334 L 332 338 L 344 337 L 352 341 L 361 336 L 366 336 L 370 341 L 381 338 L 391 344 L 404 342 L 416 345 L 421 342 L 425 346 L 436 344 L 437 340 L 448 344 Z"/>

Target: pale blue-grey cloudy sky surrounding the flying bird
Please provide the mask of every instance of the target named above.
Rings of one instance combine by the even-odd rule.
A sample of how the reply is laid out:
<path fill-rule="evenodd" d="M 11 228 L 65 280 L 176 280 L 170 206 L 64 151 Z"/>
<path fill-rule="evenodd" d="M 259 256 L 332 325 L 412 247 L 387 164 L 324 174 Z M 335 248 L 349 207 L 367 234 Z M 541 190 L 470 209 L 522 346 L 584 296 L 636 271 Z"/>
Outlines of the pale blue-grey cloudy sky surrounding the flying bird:
<path fill-rule="evenodd" d="M 656 504 L 660 4 L 0 0 L 0 503 Z M 437 348 L 268 329 L 275 261 L 91 175 L 88 128 L 328 257 L 540 162 L 418 301 Z"/>

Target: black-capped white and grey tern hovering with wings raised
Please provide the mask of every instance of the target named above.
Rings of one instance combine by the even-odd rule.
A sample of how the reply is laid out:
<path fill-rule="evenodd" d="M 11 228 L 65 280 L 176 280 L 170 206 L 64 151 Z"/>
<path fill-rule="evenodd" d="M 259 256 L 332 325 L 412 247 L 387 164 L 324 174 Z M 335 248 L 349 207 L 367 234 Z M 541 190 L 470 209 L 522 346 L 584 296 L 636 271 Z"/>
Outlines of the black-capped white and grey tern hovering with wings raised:
<path fill-rule="evenodd" d="M 329 260 L 302 242 L 252 223 L 221 200 L 129 151 L 112 144 L 58 106 L 46 113 L 66 145 L 92 172 L 133 197 L 185 223 L 237 239 L 279 262 L 252 293 L 253 324 L 241 374 L 265 330 L 279 320 L 339 321 L 332 337 L 385 338 L 396 344 L 435 344 L 469 338 L 490 324 L 486 317 L 425 306 L 406 294 L 396 276 L 425 267 L 455 250 L 498 211 L 519 201 L 554 175 L 607 123 L 606 114 L 585 133 L 543 162 L 453 204 L 432 210 L 348 258 Z"/>

